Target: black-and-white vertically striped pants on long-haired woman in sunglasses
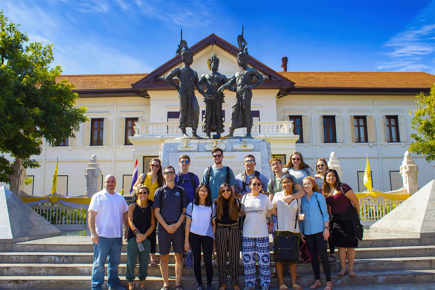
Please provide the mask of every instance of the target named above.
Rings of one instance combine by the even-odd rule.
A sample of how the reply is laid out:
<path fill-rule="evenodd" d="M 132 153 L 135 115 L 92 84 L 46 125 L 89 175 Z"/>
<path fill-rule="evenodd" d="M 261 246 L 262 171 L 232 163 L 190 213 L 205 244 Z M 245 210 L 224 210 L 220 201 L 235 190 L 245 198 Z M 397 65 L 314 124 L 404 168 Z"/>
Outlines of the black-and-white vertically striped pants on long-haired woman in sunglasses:
<path fill-rule="evenodd" d="M 239 225 L 216 227 L 216 254 L 218 256 L 219 284 L 227 284 L 227 255 L 231 265 L 231 285 L 239 284 Z"/>

